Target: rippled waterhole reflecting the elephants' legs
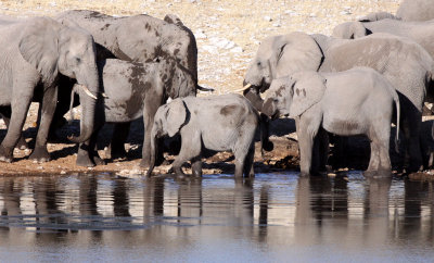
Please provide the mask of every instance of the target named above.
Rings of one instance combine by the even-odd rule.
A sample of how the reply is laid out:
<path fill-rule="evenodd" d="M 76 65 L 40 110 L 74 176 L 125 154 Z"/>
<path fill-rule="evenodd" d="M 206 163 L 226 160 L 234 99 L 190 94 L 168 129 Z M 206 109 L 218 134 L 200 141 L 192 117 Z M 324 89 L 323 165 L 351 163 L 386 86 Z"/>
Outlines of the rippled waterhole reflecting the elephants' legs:
<path fill-rule="evenodd" d="M 0 178 L 1 262 L 432 262 L 433 183 Z"/>

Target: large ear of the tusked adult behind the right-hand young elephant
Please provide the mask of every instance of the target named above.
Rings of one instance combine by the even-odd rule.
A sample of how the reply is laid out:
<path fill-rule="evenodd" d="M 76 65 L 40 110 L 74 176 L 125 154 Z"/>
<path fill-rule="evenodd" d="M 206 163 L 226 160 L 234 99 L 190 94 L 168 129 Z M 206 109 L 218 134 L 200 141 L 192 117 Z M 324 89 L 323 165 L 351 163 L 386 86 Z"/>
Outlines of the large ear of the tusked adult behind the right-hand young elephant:
<path fill-rule="evenodd" d="M 323 54 L 314 40 L 305 33 L 291 33 L 280 36 L 273 45 L 271 65 L 276 65 L 273 78 L 289 76 L 299 71 L 318 71 Z"/>

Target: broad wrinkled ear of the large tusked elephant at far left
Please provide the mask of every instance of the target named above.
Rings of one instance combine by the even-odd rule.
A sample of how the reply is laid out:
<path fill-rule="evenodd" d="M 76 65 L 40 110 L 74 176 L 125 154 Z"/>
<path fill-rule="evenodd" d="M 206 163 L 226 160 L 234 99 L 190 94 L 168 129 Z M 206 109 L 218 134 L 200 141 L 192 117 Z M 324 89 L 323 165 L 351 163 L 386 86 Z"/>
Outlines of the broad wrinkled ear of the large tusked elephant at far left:
<path fill-rule="evenodd" d="M 20 53 L 41 74 L 46 85 L 51 85 L 58 75 L 61 28 L 52 18 L 35 17 L 26 22 L 21 35 Z"/>

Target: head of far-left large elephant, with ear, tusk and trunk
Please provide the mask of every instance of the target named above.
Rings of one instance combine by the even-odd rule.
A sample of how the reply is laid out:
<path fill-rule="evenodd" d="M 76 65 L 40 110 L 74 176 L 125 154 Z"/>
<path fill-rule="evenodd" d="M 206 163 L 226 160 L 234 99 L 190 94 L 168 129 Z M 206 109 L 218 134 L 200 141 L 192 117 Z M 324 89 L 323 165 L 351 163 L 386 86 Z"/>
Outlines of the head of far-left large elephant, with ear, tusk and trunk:
<path fill-rule="evenodd" d="M 38 71 L 44 87 L 54 86 L 59 74 L 63 74 L 77 79 L 88 93 L 93 95 L 93 98 L 80 98 L 81 134 L 79 137 L 72 137 L 75 142 L 88 140 L 93 132 L 94 97 L 99 92 L 92 36 L 84 29 L 64 26 L 48 17 L 30 18 L 22 36 L 20 52 Z"/>

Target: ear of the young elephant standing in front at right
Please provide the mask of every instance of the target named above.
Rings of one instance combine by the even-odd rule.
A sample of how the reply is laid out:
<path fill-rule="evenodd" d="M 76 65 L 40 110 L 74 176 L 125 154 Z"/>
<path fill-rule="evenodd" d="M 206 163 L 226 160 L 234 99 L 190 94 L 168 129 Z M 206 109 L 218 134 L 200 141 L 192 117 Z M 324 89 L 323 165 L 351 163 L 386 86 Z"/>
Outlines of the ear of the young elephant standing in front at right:
<path fill-rule="evenodd" d="M 317 72 L 296 73 L 292 75 L 292 80 L 290 116 L 296 117 L 322 99 L 327 80 Z"/>

